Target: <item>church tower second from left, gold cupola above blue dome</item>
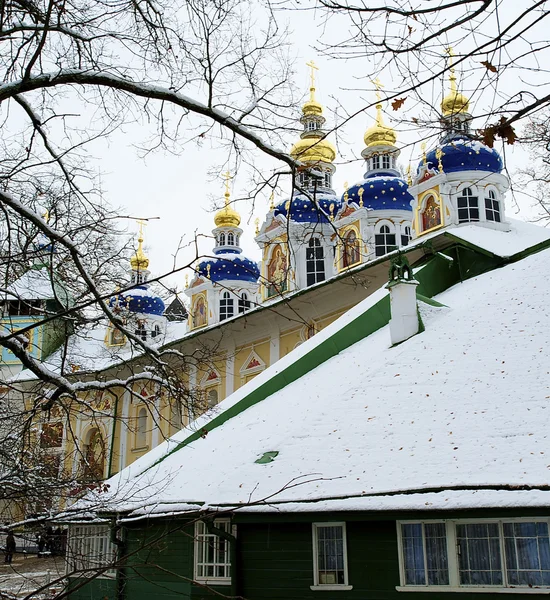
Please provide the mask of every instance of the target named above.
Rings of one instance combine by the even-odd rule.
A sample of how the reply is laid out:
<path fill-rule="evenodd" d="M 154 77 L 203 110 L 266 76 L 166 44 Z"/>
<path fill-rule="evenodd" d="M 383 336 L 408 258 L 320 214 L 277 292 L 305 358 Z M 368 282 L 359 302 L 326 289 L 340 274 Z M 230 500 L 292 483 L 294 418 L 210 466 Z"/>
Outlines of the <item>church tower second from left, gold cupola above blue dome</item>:
<path fill-rule="evenodd" d="M 258 303 L 258 265 L 243 256 L 241 216 L 231 207 L 226 173 L 224 207 L 214 216 L 213 256 L 201 260 L 185 293 L 190 298 L 189 328 L 230 319 Z"/>

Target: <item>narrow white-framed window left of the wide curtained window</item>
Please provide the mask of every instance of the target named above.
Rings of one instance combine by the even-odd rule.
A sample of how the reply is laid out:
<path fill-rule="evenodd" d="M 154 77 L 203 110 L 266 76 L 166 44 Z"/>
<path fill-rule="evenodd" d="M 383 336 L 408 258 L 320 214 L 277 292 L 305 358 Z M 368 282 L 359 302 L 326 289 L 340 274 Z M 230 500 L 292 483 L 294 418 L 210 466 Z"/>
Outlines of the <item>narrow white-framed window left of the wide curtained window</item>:
<path fill-rule="evenodd" d="M 337 544 L 340 542 L 342 550 L 342 563 L 341 567 L 336 565 L 335 568 L 327 568 L 327 556 L 325 556 L 324 565 L 320 561 L 320 553 L 326 555 L 326 551 L 330 548 L 327 545 L 327 540 L 322 536 L 322 529 L 340 528 L 341 536 L 334 540 L 332 543 Z M 345 591 L 353 589 L 352 585 L 349 585 L 348 580 L 348 555 L 347 555 L 347 540 L 346 540 L 346 524 L 344 522 L 336 523 L 312 523 L 312 534 L 313 534 L 313 585 L 310 586 L 312 590 L 329 590 L 329 591 Z M 330 541 L 330 540 L 329 540 Z M 324 547 L 322 547 L 324 546 Z M 330 561 L 334 561 L 337 558 L 338 553 L 330 556 Z M 341 572 L 341 581 L 338 582 L 339 574 Z"/>

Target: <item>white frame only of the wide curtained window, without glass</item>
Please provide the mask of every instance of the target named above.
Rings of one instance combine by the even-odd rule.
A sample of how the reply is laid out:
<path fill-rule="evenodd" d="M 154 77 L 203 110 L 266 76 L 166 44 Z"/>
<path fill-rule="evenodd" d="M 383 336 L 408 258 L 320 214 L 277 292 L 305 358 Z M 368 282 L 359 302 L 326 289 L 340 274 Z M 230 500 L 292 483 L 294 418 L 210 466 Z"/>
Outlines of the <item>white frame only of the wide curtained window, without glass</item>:
<path fill-rule="evenodd" d="M 418 525 L 426 523 L 444 523 L 447 537 L 447 561 L 449 568 L 449 585 L 414 585 L 405 583 L 405 563 L 403 560 L 403 536 L 402 525 Z M 499 523 L 500 535 L 500 558 L 502 565 L 503 585 L 466 585 L 461 584 L 459 579 L 459 565 L 457 553 L 457 525 L 471 525 L 481 523 Z M 397 521 L 397 545 L 399 552 L 399 583 L 396 586 L 398 592 L 462 592 L 462 593 L 490 593 L 490 594 L 550 594 L 550 585 L 546 587 L 529 587 L 528 585 L 516 585 L 507 583 L 506 553 L 504 548 L 503 524 L 504 523 L 547 523 L 550 532 L 550 519 L 547 517 L 521 517 L 512 519 L 429 519 L 429 520 L 407 520 Z M 425 552 L 425 539 L 424 552 Z"/>

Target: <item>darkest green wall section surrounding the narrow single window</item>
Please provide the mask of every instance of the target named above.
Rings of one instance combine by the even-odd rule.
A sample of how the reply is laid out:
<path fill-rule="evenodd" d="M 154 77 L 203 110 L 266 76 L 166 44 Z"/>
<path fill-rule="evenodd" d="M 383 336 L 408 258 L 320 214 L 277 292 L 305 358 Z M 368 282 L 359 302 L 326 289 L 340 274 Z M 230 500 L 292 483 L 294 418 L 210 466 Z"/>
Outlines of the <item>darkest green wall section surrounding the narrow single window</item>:
<path fill-rule="evenodd" d="M 492 513 L 494 516 L 494 513 Z M 418 517 L 418 514 L 416 515 Z M 540 514 L 539 514 L 540 516 Z M 324 519 L 318 519 L 320 522 Z M 334 519 L 334 520 L 342 520 Z M 398 592 L 396 522 L 346 523 L 349 591 L 313 591 L 311 522 L 238 525 L 238 594 L 249 600 L 452 600 L 457 592 Z M 458 593 L 463 599 L 497 600 L 500 593 Z M 514 593 L 527 600 L 532 594 Z"/>

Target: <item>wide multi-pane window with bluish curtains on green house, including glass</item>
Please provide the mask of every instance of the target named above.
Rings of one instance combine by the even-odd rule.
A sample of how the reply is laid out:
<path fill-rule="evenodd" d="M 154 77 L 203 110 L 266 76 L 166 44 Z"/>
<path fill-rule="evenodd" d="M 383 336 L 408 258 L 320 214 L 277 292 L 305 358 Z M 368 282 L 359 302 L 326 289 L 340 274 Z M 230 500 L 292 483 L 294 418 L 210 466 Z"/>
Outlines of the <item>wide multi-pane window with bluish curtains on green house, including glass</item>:
<path fill-rule="evenodd" d="M 535 535 L 521 532 L 516 527 L 523 525 L 523 529 L 526 529 L 526 524 L 534 525 Z M 404 527 L 407 526 L 415 527 L 416 533 L 421 532 L 420 535 L 409 537 L 416 541 L 406 542 Z M 468 531 L 468 526 L 478 526 L 477 533 L 474 527 Z M 481 534 L 479 526 L 486 527 L 486 535 Z M 427 535 L 427 528 L 437 532 L 437 535 Z M 397 540 L 400 572 L 398 591 L 550 593 L 548 518 L 398 521 Z M 408 565 L 407 559 L 412 559 Z M 530 563 L 528 567 L 527 561 Z M 538 567 L 535 562 L 538 562 Z M 540 576 L 538 581 L 537 574 Z M 479 583 L 472 583 L 475 578 Z"/>

